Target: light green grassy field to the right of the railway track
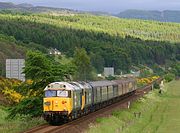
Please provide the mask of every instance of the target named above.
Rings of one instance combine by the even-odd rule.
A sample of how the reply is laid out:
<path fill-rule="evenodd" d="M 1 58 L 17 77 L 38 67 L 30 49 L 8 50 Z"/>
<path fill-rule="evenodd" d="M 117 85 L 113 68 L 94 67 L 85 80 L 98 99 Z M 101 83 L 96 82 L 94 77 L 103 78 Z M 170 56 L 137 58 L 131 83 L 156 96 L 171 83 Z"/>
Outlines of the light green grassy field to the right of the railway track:
<path fill-rule="evenodd" d="M 89 133 L 177 133 L 180 132 L 180 81 L 173 81 L 146 95 L 129 110 L 113 112 L 109 118 L 98 118 Z M 135 115 L 137 113 L 137 115 Z M 138 115 L 140 113 L 140 116 Z"/>

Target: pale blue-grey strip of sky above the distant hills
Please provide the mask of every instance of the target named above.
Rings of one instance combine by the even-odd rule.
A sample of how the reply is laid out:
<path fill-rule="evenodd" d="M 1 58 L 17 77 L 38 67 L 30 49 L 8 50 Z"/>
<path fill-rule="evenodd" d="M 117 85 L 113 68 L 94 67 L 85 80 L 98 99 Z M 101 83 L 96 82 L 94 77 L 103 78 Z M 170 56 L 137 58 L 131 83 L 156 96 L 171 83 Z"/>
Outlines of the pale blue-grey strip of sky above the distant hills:
<path fill-rule="evenodd" d="M 127 9 L 180 10 L 180 0 L 0 0 L 0 2 L 109 13 L 118 13 Z"/>

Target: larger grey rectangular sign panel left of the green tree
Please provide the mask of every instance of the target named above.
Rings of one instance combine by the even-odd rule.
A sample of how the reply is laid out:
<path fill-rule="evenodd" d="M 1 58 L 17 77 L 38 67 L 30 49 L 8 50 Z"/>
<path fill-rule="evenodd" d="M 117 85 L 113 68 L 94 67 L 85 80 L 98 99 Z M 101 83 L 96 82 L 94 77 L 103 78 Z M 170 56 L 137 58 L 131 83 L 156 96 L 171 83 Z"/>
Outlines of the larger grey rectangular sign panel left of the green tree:
<path fill-rule="evenodd" d="M 6 78 L 25 81 L 25 74 L 22 73 L 24 67 L 24 59 L 6 59 Z"/>

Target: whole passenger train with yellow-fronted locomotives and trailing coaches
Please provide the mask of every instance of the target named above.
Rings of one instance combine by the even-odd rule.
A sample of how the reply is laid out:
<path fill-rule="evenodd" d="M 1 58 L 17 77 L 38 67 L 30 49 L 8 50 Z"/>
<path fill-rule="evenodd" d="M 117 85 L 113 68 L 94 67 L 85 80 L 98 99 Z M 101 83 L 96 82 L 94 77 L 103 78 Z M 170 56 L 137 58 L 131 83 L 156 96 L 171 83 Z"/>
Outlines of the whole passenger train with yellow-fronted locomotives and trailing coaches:
<path fill-rule="evenodd" d="M 133 94 L 136 80 L 54 82 L 44 89 L 44 119 L 50 124 L 76 119 L 123 96 Z"/>

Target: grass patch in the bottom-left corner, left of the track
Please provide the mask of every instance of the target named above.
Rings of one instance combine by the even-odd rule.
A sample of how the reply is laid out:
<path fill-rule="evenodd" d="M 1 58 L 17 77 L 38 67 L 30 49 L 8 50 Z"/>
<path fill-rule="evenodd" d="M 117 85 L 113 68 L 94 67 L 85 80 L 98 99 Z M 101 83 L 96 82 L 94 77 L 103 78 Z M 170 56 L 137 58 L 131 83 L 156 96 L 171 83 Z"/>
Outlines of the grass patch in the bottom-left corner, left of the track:
<path fill-rule="evenodd" d="M 0 106 L 0 133 L 18 133 L 31 127 L 45 123 L 42 118 L 30 116 L 17 116 L 15 119 L 7 119 L 7 108 Z"/>

